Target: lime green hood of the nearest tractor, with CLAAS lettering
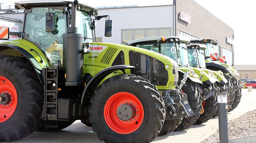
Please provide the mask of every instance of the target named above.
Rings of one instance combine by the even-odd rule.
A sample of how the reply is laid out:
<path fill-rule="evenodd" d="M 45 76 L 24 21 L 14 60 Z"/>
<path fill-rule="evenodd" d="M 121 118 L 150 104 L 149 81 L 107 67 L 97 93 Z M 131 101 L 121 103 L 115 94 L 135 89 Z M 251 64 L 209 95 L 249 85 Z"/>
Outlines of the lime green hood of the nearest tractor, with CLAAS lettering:
<path fill-rule="evenodd" d="M 159 69 L 160 71 L 166 71 L 169 89 L 173 88 L 178 83 L 178 64 L 175 60 L 165 55 L 139 47 L 113 43 L 90 43 L 89 48 L 90 53 L 84 54 L 83 63 L 84 65 L 87 65 L 87 67 L 96 66 L 99 68 L 107 68 L 114 65 L 131 65 L 130 63 L 133 64 L 135 61 L 140 61 L 139 63 L 135 63 L 134 66 L 135 69 L 137 66 L 136 70 L 138 70 L 138 73 L 141 73 L 141 75 L 142 73 L 147 74 L 149 68 Z M 152 67 L 149 63 L 150 59 L 153 61 L 160 61 L 161 64 Z M 140 64 L 147 68 L 143 70 L 140 69 Z"/>

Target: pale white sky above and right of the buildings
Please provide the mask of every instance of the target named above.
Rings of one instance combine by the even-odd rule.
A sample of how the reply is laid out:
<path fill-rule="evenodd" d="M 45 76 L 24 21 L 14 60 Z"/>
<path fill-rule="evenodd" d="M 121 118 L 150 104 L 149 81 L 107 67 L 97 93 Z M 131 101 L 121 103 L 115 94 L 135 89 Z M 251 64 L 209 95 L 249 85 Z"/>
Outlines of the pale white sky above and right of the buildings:
<path fill-rule="evenodd" d="M 14 5 L 17 0 L 0 0 L 3 6 Z M 23 0 L 24 1 L 24 0 Z M 256 46 L 253 44 L 256 34 L 256 1 L 251 0 L 195 0 L 203 8 L 217 16 L 235 31 L 235 65 L 256 65 Z M 85 1 L 93 7 L 117 5 L 166 5 L 172 0 L 97 0 Z"/>

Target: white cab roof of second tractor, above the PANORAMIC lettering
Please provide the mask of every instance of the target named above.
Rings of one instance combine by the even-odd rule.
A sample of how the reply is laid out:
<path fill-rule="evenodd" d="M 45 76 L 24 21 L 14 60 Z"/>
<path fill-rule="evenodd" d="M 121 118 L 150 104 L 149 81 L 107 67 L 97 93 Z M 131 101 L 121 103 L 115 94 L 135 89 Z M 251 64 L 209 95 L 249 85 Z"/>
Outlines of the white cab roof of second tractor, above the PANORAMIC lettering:
<path fill-rule="evenodd" d="M 137 40 L 132 40 L 130 42 L 127 42 L 127 45 L 131 45 L 131 44 L 142 44 L 142 43 L 157 43 L 158 40 L 161 40 L 162 36 L 156 36 L 156 37 L 147 37 L 147 38 L 141 38 L 141 39 L 137 39 Z M 164 36 L 165 41 L 170 41 L 170 39 L 175 39 L 177 38 L 178 41 L 174 41 L 174 42 L 184 42 L 184 43 L 189 43 L 190 40 L 188 38 L 185 37 L 177 37 L 177 36 Z"/>

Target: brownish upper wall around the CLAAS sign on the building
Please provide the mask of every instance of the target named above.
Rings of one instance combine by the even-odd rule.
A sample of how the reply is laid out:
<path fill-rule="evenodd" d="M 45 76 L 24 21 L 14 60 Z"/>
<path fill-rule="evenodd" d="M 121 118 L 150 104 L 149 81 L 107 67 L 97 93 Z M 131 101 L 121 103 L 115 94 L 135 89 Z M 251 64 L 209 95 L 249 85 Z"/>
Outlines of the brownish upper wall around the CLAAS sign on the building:
<path fill-rule="evenodd" d="M 178 13 L 181 11 L 191 16 L 190 24 L 178 18 Z M 217 39 L 221 47 L 232 50 L 232 45 L 226 42 L 226 36 L 233 37 L 234 29 L 226 25 L 194 0 L 176 0 L 175 15 L 176 35 L 178 35 L 178 30 L 180 29 L 200 38 Z"/>

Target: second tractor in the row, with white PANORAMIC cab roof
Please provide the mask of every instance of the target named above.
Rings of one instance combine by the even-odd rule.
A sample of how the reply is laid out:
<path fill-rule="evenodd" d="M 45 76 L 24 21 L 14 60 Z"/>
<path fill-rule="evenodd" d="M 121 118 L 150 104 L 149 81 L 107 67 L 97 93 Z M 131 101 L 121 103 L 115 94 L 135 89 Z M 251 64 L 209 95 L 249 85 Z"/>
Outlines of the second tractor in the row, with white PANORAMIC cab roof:
<path fill-rule="evenodd" d="M 162 56 L 168 56 L 174 59 L 179 66 L 178 85 L 183 84 L 184 80 L 182 78 L 184 74 L 186 72 L 189 73 L 188 78 L 185 81 L 185 86 L 182 86 L 181 90 L 187 94 L 188 102 L 192 111 L 194 112 L 194 116 L 183 119 L 181 124 L 177 125 L 175 131 L 183 130 L 193 125 L 199 118 L 202 110 L 202 98 L 200 91 L 201 87 L 199 87 L 199 85 L 202 85 L 203 83 L 199 80 L 199 77 L 195 71 L 189 67 L 187 54 L 187 44 L 189 42 L 190 41 L 188 38 L 167 36 L 142 38 L 127 43 L 128 45 L 148 49 L 153 52 L 158 52 L 161 53 Z"/>

